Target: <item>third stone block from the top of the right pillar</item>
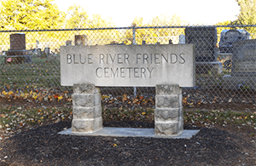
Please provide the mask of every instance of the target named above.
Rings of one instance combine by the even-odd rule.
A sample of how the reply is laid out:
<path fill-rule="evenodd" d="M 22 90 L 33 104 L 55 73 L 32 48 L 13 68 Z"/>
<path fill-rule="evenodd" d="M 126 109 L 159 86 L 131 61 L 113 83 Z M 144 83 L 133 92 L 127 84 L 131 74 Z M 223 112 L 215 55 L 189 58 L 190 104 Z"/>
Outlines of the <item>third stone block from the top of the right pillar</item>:
<path fill-rule="evenodd" d="M 156 122 L 178 122 L 180 109 L 182 108 L 155 108 L 154 120 Z"/>

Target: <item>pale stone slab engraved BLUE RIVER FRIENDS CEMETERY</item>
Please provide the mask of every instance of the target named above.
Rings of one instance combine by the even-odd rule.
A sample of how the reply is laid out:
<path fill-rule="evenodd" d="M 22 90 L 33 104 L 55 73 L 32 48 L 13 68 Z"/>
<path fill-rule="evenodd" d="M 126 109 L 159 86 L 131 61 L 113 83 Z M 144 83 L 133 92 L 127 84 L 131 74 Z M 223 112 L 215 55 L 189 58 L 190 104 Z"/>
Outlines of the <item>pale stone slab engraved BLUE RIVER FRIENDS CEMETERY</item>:
<path fill-rule="evenodd" d="M 194 44 L 61 46 L 61 85 L 195 86 Z"/>

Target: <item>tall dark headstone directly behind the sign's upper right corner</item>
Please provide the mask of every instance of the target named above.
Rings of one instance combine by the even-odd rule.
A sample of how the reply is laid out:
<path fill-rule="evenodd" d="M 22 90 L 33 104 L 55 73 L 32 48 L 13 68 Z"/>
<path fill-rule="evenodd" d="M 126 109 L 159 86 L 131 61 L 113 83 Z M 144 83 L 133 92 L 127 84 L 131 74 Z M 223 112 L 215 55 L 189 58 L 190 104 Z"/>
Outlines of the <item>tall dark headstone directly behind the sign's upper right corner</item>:
<path fill-rule="evenodd" d="M 215 27 L 191 26 L 185 29 L 186 43 L 195 43 L 195 61 L 217 61 Z"/>

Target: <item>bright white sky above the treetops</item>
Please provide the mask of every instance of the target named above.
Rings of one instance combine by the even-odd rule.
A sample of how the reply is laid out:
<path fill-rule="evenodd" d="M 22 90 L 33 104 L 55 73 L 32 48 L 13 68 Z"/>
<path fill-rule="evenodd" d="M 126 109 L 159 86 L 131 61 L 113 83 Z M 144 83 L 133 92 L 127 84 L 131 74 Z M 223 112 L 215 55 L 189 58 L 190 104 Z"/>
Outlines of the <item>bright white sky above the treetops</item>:
<path fill-rule="evenodd" d="M 214 25 L 236 20 L 240 7 L 236 0 L 55 0 L 59 9 L 67 12 L 69 6 L 79 4 L 89 14 L 110 18 L 116 27 L 131 26 L 136 17 L 148 23 L 156 16 L 177 14 L 189 24 Z"/>

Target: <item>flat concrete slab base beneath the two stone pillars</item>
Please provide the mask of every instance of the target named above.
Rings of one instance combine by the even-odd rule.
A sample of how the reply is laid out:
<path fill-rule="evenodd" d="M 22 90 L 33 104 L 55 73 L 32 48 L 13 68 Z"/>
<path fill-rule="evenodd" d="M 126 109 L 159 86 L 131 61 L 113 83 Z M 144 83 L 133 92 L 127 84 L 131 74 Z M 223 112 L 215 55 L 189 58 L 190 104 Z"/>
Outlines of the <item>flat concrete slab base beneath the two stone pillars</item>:
<path fill-rule="evenodd" d="M 58 134 L 60 135 L 84 135 L 84 136 L 113 136 L 113 137 L 152 137 L 165 139 L 190 139 L 196 135 L 198 129 L 184 129 L 183 133 L 175 136 L 154 135 L 154 129 L 136 129 L 136 128 L 102 128 L 94 133 L 72 133 L 71 129 L 66 129 Z"/>

